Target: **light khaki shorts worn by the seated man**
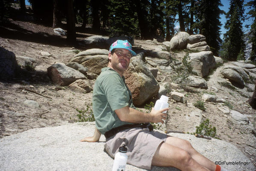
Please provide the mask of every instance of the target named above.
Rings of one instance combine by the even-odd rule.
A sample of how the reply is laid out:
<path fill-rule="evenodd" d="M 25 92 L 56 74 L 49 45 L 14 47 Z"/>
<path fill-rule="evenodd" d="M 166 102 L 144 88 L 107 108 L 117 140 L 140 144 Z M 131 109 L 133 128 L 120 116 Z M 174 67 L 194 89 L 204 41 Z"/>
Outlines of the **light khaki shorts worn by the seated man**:
<path fill-rule="evenodd" d="M 158 146 L 165 142 L 166 134 L 149 131 L 148 128 L 129 128 L 106 140 L 105 149 L 114 158 L 121 145 L 127 149 L 127 163 L 139 168 L 151 169 L 151 163 Z"/>

